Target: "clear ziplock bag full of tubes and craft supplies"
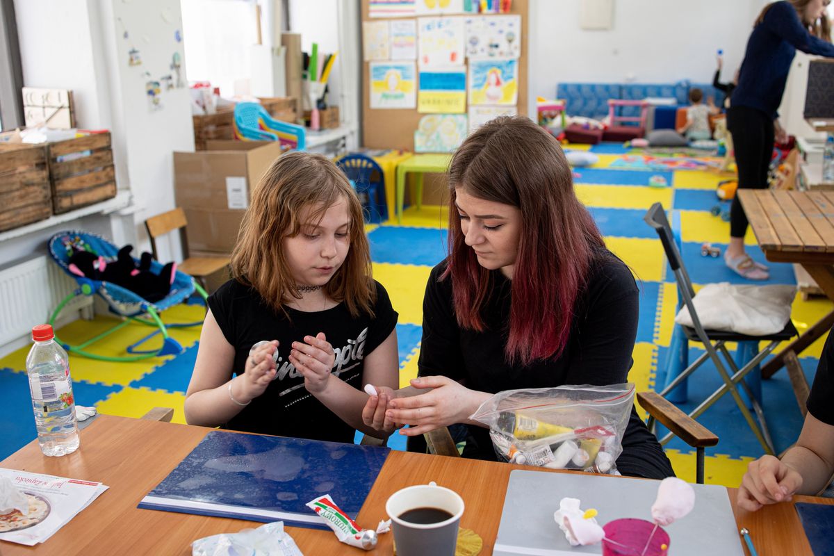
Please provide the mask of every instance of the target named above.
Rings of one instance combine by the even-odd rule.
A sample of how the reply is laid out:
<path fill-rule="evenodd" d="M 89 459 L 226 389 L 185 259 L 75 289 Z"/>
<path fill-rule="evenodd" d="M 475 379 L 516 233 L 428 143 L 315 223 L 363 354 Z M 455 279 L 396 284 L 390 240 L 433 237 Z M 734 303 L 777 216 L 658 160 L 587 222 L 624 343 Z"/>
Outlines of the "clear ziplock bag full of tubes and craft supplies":
<path fill-rule="evenodd" d="M 490 427 L 503 461 L 615 473 L 633 404 L 632 383 L 505 390 L 470 418 Z"/>

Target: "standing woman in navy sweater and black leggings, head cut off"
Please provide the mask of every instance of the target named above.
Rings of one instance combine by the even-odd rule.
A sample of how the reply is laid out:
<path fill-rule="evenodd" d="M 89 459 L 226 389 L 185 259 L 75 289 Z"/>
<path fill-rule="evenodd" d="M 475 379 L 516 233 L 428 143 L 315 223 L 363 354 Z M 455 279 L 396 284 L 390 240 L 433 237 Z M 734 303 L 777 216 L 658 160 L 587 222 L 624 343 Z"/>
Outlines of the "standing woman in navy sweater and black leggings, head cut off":
<path fill-rule="evenodd" d="M 738 166 L 738 187 L 767 187 L 767 168 L 774 137 L 787 133 L 776 112 L 785 92 L 788 71 L 798 48 L 804 53 L 834 57 L 826 7 L 831 0 L 786 0 L 761 11 L 747 41 L 738 86 L 727 111 Z M 754 263 L 744 250 L 747 217 L 738 197 L 730 210 L 730 246 L 724 253 L 728 267 L 751 280 L 769 278 L 767 267 Z"/>

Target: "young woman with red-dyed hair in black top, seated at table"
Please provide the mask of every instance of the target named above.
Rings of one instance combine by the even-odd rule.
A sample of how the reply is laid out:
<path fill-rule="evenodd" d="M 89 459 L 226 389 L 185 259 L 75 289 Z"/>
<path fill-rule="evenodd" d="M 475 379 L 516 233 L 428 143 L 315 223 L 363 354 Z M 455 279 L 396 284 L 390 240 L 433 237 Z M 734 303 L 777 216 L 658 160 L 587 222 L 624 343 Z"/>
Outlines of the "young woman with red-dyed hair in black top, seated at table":
<path fill-rule="evenodd" d="M 409 437 L 465 423 L 463 455 L 495 459 L 489 431 L 468 421 L 492 394 L 627 381 L 639 292 L 576 198 L 561 148 L 530 119 L 496 118 L 471 134 L 449 183 L 450 255 L 426 286 L 412 381 L 431 389 L 393 394 L 384 416 L 372 396 L 363 416 L 377 428 L 409 424 Z M 620 473 L 673 474 L 633 408 L 623 448 Z"/>

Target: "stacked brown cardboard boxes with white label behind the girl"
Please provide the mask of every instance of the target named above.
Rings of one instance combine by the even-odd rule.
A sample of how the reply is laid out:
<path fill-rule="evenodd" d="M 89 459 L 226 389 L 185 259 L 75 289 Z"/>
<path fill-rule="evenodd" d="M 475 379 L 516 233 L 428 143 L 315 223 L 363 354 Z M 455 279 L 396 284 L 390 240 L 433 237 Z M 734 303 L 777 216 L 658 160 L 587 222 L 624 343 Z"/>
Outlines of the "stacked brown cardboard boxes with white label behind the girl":
<path fill-rule="evenodd" d="M 231 253 L 252 190 L 281 155 L 277 142 L 208 141 L 173 153 L 174 197 L 188 218 L 188 250 Z"/>

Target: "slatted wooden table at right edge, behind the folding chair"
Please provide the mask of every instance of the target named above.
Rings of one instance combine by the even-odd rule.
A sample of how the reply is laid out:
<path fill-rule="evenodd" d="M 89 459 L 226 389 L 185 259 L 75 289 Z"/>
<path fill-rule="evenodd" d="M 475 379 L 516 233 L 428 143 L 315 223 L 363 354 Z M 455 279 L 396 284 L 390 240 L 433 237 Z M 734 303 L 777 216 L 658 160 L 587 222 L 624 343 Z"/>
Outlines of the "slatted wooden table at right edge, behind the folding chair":
<path fill-rule="evenodd" d="M 738 198 L 756 241 L 773 263 L 798 263 L 834 301 L 834 192 L 739 189 Z M 788 353 L 799 354 L 834 325 L 834 311 L 761 368 L 770 378 Z"/>

